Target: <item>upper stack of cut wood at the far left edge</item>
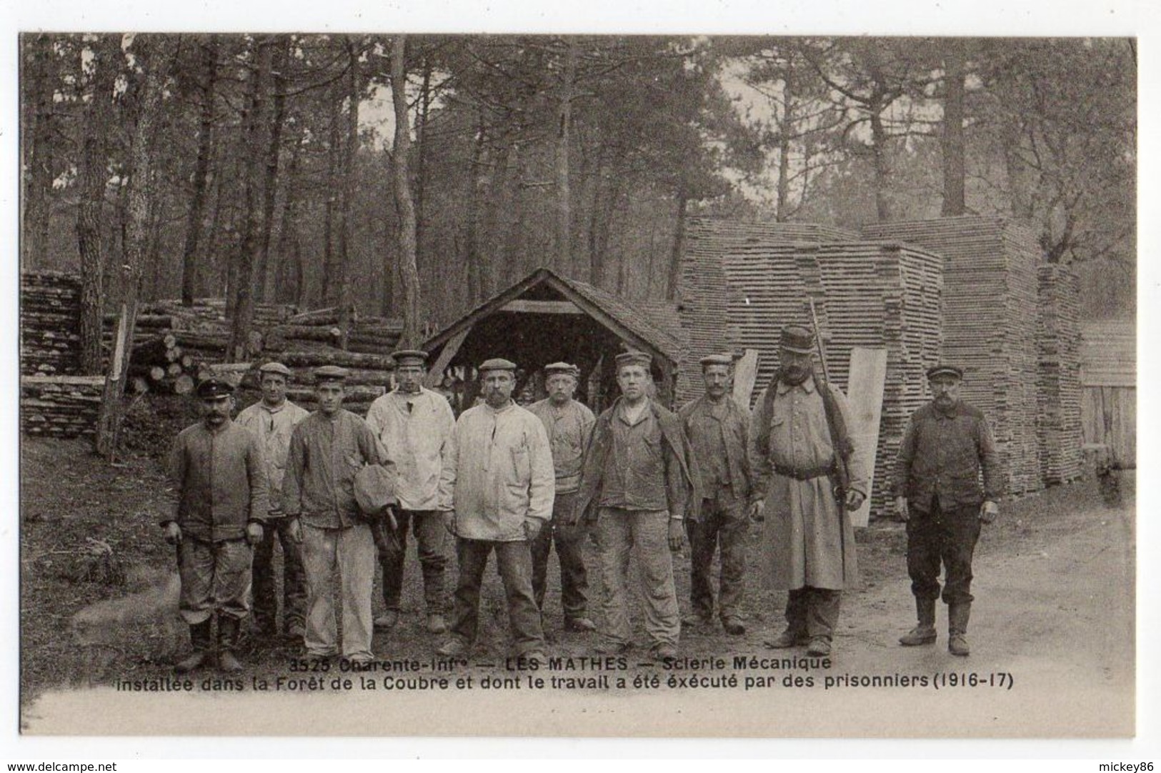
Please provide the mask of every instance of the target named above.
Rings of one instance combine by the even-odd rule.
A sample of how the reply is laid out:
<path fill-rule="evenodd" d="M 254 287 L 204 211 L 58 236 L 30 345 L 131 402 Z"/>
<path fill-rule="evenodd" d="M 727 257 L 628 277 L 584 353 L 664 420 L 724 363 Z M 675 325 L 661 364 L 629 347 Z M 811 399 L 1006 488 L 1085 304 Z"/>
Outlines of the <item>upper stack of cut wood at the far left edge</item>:
<path fill-rule="evenodd" d="M 20 275 L 20 371 L 80 370 L 80 277 L 60 272 Z"/>

